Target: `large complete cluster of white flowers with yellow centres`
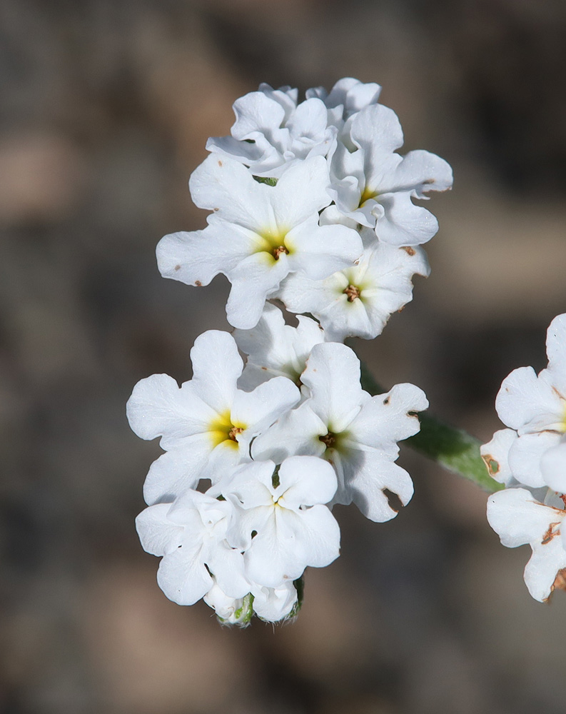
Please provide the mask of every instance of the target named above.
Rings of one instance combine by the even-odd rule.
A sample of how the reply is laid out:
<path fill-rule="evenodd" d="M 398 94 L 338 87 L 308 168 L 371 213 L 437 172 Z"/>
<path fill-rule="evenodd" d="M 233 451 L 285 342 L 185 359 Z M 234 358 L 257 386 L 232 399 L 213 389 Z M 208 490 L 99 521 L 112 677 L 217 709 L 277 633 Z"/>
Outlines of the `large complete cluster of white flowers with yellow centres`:
<path fill-rule="evenodd" d="M 426 151 L 395 153 L 403 134 L 379 94 L 342 79 L 301 103 L 268 85 L 238 99 L 231 136 L 209 139 L 189 182 L 206 228 L 157 247 L 164 277 L 226 275 L 235 329 L 197 338 L 181 387 L 161 374 L 134 388 L 131 428 L 165 451 L 136 523 L 168 598 L 203 598 L 223 622 L 297 611 L 305 568 L 338 557 L 335 504 L 383 522 L 413 495 L 397 442 L 419 431 L 425 394 L 370 396 L 343 341 L 380 334 L 428 274 L 421 245 L 438 224 L 412 199 L 452 173 Z M 298 326 L 273 298 L 303 313 Z"/>

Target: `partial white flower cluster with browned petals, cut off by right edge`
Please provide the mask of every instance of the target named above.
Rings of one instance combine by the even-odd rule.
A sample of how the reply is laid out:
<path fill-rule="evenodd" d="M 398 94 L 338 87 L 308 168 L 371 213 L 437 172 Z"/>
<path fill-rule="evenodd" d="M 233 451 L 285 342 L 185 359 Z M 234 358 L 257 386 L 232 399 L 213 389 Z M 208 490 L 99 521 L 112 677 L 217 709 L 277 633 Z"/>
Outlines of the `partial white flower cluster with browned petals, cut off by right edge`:
<path fill-rule="evenodd" d="M 490 496 L 487 520 L 507 548 L 530 544 L 525 583 L 544 602 L 566 589 L 566 314 L 547 331 L 548 366 L 538 375 L 520 367 L 497 394 L 507 429 L 482 446 L 482 457 L 503 491 Z"/>

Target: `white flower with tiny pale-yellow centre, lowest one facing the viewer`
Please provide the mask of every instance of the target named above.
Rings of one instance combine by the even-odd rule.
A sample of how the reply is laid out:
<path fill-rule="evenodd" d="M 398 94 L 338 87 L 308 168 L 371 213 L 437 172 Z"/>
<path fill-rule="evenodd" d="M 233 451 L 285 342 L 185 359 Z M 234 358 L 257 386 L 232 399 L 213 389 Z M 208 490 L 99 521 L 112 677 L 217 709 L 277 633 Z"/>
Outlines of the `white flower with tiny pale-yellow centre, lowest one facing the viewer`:
<path fill-rule="evenodd" d="M 238 517 L 228 542 L 244 551 L 246 575 L 268 588 L 281 588 L 307 565 L 323 568 L 338 558 L 340 528 L 324 505 L 336 491 L 328 463 L 292 456 L 244 464 L 215 487 L 234 503 Z"/>

